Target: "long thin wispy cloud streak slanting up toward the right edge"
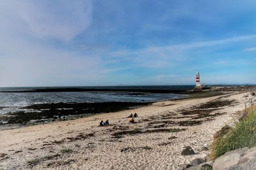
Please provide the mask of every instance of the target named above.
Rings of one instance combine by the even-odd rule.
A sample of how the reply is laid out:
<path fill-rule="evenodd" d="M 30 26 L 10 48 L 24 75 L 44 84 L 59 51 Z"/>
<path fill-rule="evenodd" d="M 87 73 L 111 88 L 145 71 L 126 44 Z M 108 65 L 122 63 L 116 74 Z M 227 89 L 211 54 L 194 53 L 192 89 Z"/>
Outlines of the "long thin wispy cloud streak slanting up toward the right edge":
<path fill-rule="evenodd" d="M 180 63 L 193 60 L 192 55 L 196 51 L 204 52 L 206 48 L 212 46 L 234 45 L 236 43 L 243 43 L 244 41 L 256 39 L 256 34 L 246 36 L 235 36 L 231 38 L 218 39 L 212 41 L 202 41 L 195 43 L 183 43 L 179 45 L 169 46 L 150 46 L 147 48 L 138 48 L 130 50 L 121 50 L 116 52 L 109 52 L 103 55 L 106 59 L 115 59 L 116 63 L 127 62 L 136 67 L 145 68 L 172 68 L 178 66 Z M 207 55 L 204 56 L 204 59 Z M 214 61 L 215 65 L 225 66 L 230 65 L 228 60 Z"/>

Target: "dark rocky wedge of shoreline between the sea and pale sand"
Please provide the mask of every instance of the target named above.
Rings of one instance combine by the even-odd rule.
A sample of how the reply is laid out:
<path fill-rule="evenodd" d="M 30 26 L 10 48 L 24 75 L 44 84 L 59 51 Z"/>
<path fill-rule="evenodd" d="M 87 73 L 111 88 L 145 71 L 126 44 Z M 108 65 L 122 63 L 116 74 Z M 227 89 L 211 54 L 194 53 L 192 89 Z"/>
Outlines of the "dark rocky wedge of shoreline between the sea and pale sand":
<path fill-rule="evenodd" d="M 132 102 L 105 102 L 105 103 L 45 103 L 33 104 L 22 109 L 28 111 L 19 111 L 0 115 L 0 120 L 7 122 L 2 124 L 17 127 L 17 125 L 35 125 L 58 121 L 59 115 L 61 120 L 88 117 L 99 113 L 110 113 L 115 111 L 129 110 L 141 106 L 147 106 L 151 103 L 132 103 Z M 11 127 L 11 129 L 12 129 Z M 6 129 L 4 128 L 4 129 Z M 10 128 L 7 128 L 10 129 Z"/>

